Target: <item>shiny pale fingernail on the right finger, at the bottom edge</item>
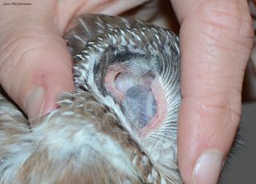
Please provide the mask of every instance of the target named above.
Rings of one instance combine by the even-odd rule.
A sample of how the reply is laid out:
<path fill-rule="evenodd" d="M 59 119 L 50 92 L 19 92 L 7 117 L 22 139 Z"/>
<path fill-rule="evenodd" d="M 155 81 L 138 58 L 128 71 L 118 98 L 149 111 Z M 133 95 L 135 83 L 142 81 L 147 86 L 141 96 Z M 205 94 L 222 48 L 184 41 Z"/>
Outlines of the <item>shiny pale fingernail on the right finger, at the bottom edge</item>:
<path fill-rule="evenodd" d="M 197 160 L 193 170 L 194 184 L 218 182 L 222 170 L 223 155 L 219 151 L 205 151 Z"/>

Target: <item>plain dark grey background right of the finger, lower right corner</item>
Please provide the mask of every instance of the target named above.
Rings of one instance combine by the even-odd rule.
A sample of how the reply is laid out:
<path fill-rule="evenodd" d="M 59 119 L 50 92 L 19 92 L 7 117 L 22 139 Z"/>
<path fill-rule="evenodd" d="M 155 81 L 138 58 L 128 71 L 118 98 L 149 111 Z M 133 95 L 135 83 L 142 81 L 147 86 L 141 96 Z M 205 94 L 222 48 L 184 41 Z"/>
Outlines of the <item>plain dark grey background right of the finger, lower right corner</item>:
<path fill-rule="evenodd" d="M 256 183 L 256 103 L 242 105 L 239 132 L 241 147 L 235 148 L 221 178 L 222 184 Z"/>

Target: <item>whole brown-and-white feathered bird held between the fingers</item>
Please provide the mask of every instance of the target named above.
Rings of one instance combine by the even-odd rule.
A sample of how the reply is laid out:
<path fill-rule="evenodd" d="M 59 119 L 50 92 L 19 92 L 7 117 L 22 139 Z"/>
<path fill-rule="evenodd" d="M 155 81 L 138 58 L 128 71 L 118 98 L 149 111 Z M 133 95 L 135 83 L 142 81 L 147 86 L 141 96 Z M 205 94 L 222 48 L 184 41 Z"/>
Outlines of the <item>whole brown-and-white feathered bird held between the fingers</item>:
<path fill-rule="evenodd" d="M 0 95 L 0 183 L 182 183 L 178 36 L 106 14 L 70 25 L 74 92 L 36 119 Z"/>

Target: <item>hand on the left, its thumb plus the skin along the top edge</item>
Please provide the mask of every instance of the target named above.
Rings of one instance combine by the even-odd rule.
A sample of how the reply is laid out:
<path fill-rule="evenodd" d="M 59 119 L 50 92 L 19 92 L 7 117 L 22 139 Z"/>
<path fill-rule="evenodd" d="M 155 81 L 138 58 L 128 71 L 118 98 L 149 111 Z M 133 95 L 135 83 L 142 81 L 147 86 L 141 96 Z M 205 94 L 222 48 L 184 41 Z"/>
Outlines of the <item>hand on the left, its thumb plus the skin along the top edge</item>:
<path fill-rule="evenodd" d="M 104 3 L 103 3 L 104 2 Z M 74 88 L 62 36 L 78 14 L 119 14 L 145 0 L 30 1 L 0 6 L 0 84 L 30 118 L 56 108 L 56 96 Z"/>

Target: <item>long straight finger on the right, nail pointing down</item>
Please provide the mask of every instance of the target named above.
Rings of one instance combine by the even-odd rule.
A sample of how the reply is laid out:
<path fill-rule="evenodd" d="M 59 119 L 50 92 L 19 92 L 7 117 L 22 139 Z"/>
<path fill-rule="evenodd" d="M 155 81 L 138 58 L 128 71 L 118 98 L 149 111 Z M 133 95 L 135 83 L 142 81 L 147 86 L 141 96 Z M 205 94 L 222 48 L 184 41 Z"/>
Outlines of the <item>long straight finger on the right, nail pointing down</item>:
<path fill-rule="evenodd" d="M 185 183 L 216 183 L 241 114 L 253 40 L 248 5 L 246 0 L 172 4 L 181 23 L 178 165 Z"/>

